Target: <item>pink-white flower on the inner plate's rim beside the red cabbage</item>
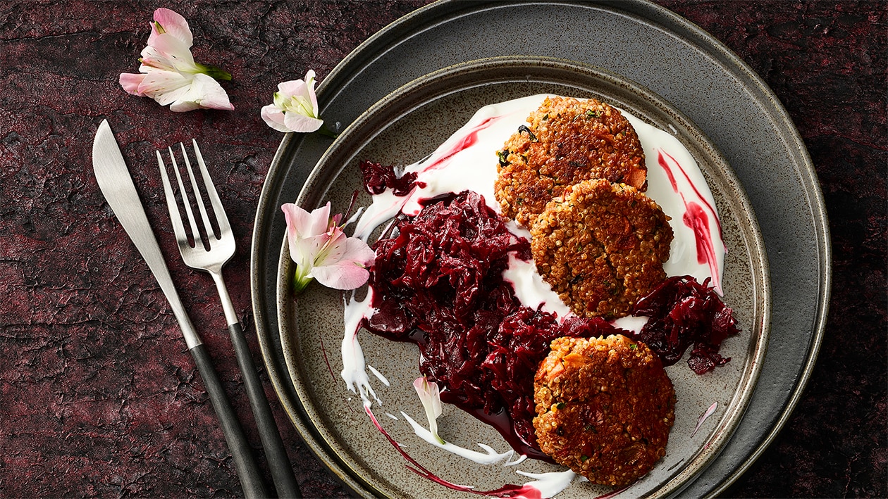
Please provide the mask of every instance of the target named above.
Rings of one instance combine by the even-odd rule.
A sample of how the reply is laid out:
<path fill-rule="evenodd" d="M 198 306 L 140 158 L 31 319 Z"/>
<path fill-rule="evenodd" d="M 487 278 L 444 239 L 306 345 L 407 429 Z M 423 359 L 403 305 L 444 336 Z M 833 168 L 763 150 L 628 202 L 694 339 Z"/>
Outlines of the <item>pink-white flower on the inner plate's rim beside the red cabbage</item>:
<path fill-rule="evenodd" d="M 317 279 L 334 289 L 360 287 L 370 276 L 367 269 L 376 253 L 360 238 L 342 230 L 342 214 L 330 218 L 330 204 L 308 213 L 293 203 L 281 206 L 287 220 L 289 256 L 296 262 L 296 292 Z"/>

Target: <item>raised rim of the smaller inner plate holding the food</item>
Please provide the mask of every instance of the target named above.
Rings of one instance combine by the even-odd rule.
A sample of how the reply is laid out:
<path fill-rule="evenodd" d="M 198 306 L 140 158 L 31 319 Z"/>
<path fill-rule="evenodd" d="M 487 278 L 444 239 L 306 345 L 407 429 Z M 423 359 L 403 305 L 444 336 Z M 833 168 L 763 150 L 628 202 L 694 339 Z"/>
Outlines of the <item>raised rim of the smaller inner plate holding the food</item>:
<path fill-rule="evenodd" d="M 344 143 L 358 141 L 360 143 L 358 145 L 359 148 L 366 146 L 376 134 L 375 132 L 361 134 L 361 132 L 369 125 L 372 125 L 372 121 L 378 121 L 378 119 L 375 120 L 378 113 L 386 113 L 386 110 L 392 108 L 392 106 L 395 107 L 395 114 L 412 113 L 417 107 L 427 105 L 430 102 L 430 98 L 423 97 L 423 89 L 429 86 L 432 86 L 435 89 L 440 89 L 440 87 L 445 86 L 445 83 L 455 79 L 457 80 L 454 90 L 442 91 L 431 97 L 431 100 L 437 100 L 447 97 L 451 92 L 459 93 L 465 90 L 478 88 L 488 82 L 496 83 L 503 80 L 509 81 L 513 78 L 500 77 L 496 74 L 494 76 L 488 76 L 488 73 L 491 73 L 491 71 L 520 71 L 525 68 L 527 68 L 528 71 L 545 68 L 550 72 L 576 74 L 577 79 L 582 79 L 583 83 L 586 81 L 601 81 L 612 87 L 619 87 L 622 91 L 626 91 L 632 96 L 638 97 L 638 99 L 643 101 L 645 105 L 650 105 L 652 108 L 656 108 L 659 112 L 668 114 L 671 124 L 674 124 L 678 129 L 684 130 L 687 136 L 692 136 L 691 139 L 696 141 L 697 147 L 707 150 L 711 155 L 710 157 L 714 157 L 718 160 L 721 167 L 717 169 L 716 175 L 721 175 L 723 181 L 733 187 L 732 197 L 734 199 L 731 204 L 739 205 L 741 212 L 743 212 L 735 216 L 738 216 L 741 220 L 741 224 L 745 225 L 746 222 L 749 222 L 749 238 L 744 237 L 744 240 L 746 241 L 745 246 L 748 248 L 750 258 L 752 259 L 752 261 L 749 262 L 750 266 L 753 267 L 751 277 L 753 282 L 757 283 L 757 285 L 753 287 L 753 289 L 757 291 L 754 294 L 755 298 L 750 300 L 753 306 L 750 319 L 752 320 L 752 329 L 758 330 L 759 335 L 753 340 L 753 348 L 751 348 L 753 351 L 750 352 L 749 356 L 744 360 L 744 365 L 747 367 L 743 370 L 737 386 L 733 389 L 732 396 L 730 397 L 732 402 L 729 402 L 727 409 L 725 409 L 725 414 L 721 417 L 717 433 L 713 434 L 709 441 L 704 442 L 706 445 L 702 445 L 702 447 L 698 448 L 692 454 L 690 459 L 685 463 L 685 466 L 683 466 L 679 472 L 674 474 L 670 480 L 667 480 L 662 484 L 663 486 L 668 487 L 662 487 L 648 492 L 648 494 L 654 496 L 676 494 L 689 485 L 690 482 L 694 481 L 716 458 L 718 458 L 721 449 L 725 447 L 730 440 L 730 437 L 733 435 L 733 432 L 740 424 L 745 409 L 749 406 L 759 374 L 761 373 L 762 361 L 765 358 L 770 335 L 770 316 L 772 309 L 772 303 L 770 300 L 771 286 L 769 264 L 764 238 L 762 237 L 761 230 L 757 223 L 754 207 L 752 207 L 749 197 L 745 190 L 743 190 L 742 184 L 734 174 L 730 164 L 721 152 L 718 151 L 716 145 L 703 133 L 702 129 L 697 127 L 694 122 L 679 109 L 670 105 L 668 101 L 654 93 L 652 90 L 638 84 L 638 82 L 633 82 L 620 74 L 615 74 L 614 72 L 607 70 L 606 68 L 592 66 L 569 59 L 538 56 L 501 56 L 464 61 L 456 65 L 440 68 L 430 74 L 424 74 L 412 82 L 408 82 L 398 89 L 392 90 L 392 92 L 388 93 L 385 97 L 377 101 L 377 103 L 371 105 L 369 109 L 361 113 L 321 155 L 321 158 L 317 161 L 311 173 L 306 178 L 305 184 L 300 189 L 296 203 L 305 209 L 312 209 L 319 206 L 318 203 L 321 202 L 323 196 L 321 196 L 321 190 L 314 189 L 317 187 L 316 184 L 326 183 L 325 179 L 342 175 L 344 169 L 347 168 L 343 158 L 337 158 L 337 161 L 334 163 L 334 165 L 339 165 L 338 168 L 320 168 L 321 165 L 329 165 L 330 158 L 335 157 L 342 148 L 345 148 L 345 155 L 347 156 L 347 151 L 351 151 L 353 146 L 343 145 Z M 479 81 L 460 83 L 459 81 L 465 79 L 466 73 L 478 76 Z M 551 79 L 551 82 L 558 83 L 557 79 L 550 74 L 547 74 L 546 77 L 541 76 L 540 78 L 546 82 L 549 82 Z M 564 81 L 564 84 L 566 85 L 581 85 L 583 83 L 567 82 L 567 80 Z M 399 105 L 398 103 L 403 102 L 405 97 L 412 98 L 408 99 L 407 105 Z M 276 277 L 278 283 L 276 300 L 278 307 L 279 334 L 281 345 L 284 346 L 291 342 L 291 340 L 287 338 L 287 334 L 294 334 L 293 331 L 290 331 L 291 327 L 292 329 L 298 330 L 298 325 L 288 316 L 288 310 L 292 308 L 291 301 L 293 300 L 289 288 L 289 269 L 291 267 L 292 263 L 289 260 L 289 246 L 287 244 L 287 238 L 284 236 L 281 239 L 278 276 Z M 762 292 L 761 297 L 757 296 L 759 291 Z M 306 404 L 313 405 L 311 404 L 311 399 L 313 398 L 310 393 L 311 390 L 308 386 L 305 386 L 305 382 L 302 380 L 304 377 L 299 374 L 301 366 L 298 365 L 296 359 L 291 360 L 292 355 L 287 354 L 286 347 L 284 350 L 283 356 L 287 365 L 289 380 L 297 394 L 297 402 L 303 408 L 305 408 Z M 740 402 L 733 403 L 738 397 L 740 398 Z M 313 411 L 318 411 L 318 409 L 314 408 Z M 321 432 L 314 430 L 317 426 L 317 422 L 313 421 L 311 417 L 307 417 L 307 414 L 303 421 L 303 425 L 312 428 L 312 431 L 308 433 L 309 435 L 314 438 L 320 438 L 320 441 L 318 442 L 319 448 L 323 448 L 327 453 L 332 454 L 332 456 L 329 456 L 330 459 L 335 459 L 338 464 L 345 467 L 353 478 L 359 479 L 361 483 L 366 484 L 372 491 L 385 494 L 385 492 L 378 487 L 374 487 L 369 480 L 363 480 L 365 476 L 369 478 L 368 473 L 361 473 L 359 469 L 356 469 L 355 466 L 349 464 L 355 460 L 354 456 L 343 456 L 338 454 L 337 450 L 335 450 L 333 446 L 328 443 L 327 439 L 321 435 Z M 718 443 L 716 451 L 707 452 L 710 445 L 713 443 Z M 693 464 L 694 469 L 689 470 L 688 464 Z M 363 470 L 363 468 L 361 468 L 361 470 Z M 663 491 L 662 494 L 661 491 Z"/>

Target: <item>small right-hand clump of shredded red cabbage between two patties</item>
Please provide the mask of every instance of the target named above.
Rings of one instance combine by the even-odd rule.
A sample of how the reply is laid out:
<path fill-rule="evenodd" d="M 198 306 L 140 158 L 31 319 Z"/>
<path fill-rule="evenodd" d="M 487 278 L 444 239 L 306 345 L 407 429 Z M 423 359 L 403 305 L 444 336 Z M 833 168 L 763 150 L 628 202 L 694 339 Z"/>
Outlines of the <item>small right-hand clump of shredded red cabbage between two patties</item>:
<path fill-rule="evenodd" d="M 709 284 L 710 279 L 700 284 L 690 276 L 667 278 L 636 303 L 633 314 L 650 319 L 630 338 L 646 343 L 663 365 L 677 363 L 692 344 L 687 365 L 697 374 L 725 365 L 731 358 L 719 355 L 718 348 L 740 328 Z"/>

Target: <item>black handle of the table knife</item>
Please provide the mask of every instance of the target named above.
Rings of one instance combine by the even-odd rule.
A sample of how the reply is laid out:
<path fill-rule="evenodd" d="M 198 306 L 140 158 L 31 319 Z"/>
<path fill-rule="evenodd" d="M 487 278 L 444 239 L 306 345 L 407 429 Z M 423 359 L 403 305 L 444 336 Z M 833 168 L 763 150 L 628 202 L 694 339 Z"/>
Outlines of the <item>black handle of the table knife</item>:
<path fill-rule="evenodd" d="M 228 395 L 222 387 L 216 370 L 213 369 L 207 347 L 203 344 L 192 347 L 191 355 L 194 356 L 194 363 L 197 364 L 203 384 L 207 388 L 207 393 L 210 394 L 210 402 L 212 402 L 219 423 L 222 425 L 222 433 L 225 434 L 228 449 L 234 459 L 234 467 L 241 480 L 243 495 L 257 498 L 268 497 L 262 481 L 262 474 L 259 472 L 256 458 L 253 456 L 253 448 L 250 447 L 250 442 L 247 441 L 247 436 L 243 433 L 243 428 L 234 414 L 231 402 L 228 402 Z"/>

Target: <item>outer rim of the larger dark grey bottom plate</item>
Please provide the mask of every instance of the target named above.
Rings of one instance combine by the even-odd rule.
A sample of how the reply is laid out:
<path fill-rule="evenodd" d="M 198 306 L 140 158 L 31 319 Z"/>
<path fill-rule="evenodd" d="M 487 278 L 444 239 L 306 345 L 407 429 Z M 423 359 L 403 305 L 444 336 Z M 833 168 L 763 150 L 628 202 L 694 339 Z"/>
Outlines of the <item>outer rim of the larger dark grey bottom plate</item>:
<path fill-rule="evenodd" d="M 781 137 L 786 143 L 785 150 L 789 153 L 794 164 L 795 173 L 799 179 L 799 186 L 806 196 L 805 200 L 807 204 L 805 205 L 805 215 L 810 215 L 810 218 L 805 216 L 805 221 L 810 221 L 813 225 L 812 236 L 816 244 L 816 253 L 818 257 L 816 267 L 819 270 L 821 279 L 817 282 L 816 292 L 811 293 L 811 298 L 816 300 L 816 306 L 810 316 L 805 316 L 805 319 L 811 320 L 810 327 L 807 328 L 810 330 L 810 336 L 807 337 L 807 344 L 801 346 L 801 348 L 805 349 L 805 354 L 801 358 L 798 370 L 793 372 L 792 379 L 789 380 L 791 386 L 789 387 L 789 394 L 785 399 L 781 413 L 766 421 L 766 424 L 769 425 L 770 428 L 763 433 L 757 433 L 754 439 L 756 442 L 754 443 L 752 450 L 749 452 L 744 450 L 743 460 L 739 466 L 733 468 L 731 472 L 719 477 L 717 480 L 713 480 L 713 483 L 707 483 L 702 486 L 707 487 L 706 490 L 709 495 L 720 494 L 724 492 L 727 487 L 730 487 L 743 472 L 746 472 L 749 467 L 755 463 L 757 458 L 765 452 L 765 449 L 768 448 L 776 435 L 780 433 L 783 426 L 787 423 L 793 409 L 796 408 L 797 402 L 805 390 L 805 386 L 807 386 L 811 377 L 813 364 L 816 362 L 817 355 L 820 351 L 823 334 L 826 328 L 826 316 L 829 311 L 829 296 L 832 282 L 832 249 L 829 239 L 829 222 L 827 220 L 826 208 L 823 204 L 823 195 L 820 189 L 820 184 L 817 181 L 813 163 L 805 148 L 804 142 L 801 140 L 798 130 L 792 123 L 789 114 L 786 112 L 783 105 L 781 105 L 777 97 L 773 95 L 773 91 L 771 91 L 765 82 L 763 82 L 762 79 L 741 60 L 741 58 L 737 57 L 733 51 L 728 49 L 712 35 L 706 33 L 701 28 L 696 27 L 689 20 L 678 16 L 678 14 L 674 12 L 670 12 L 662 6 L 651 4 L 644 0 L 623 0 L 619 2 L 615 0 L 597 0 L 585 3 L 574 0 L 563 0 L 539 3 L 568 5 L 583 4 L 585 6 L 593 4 L 609 7 L 614 11 L 629 12 L 631 15 L 637 16 L 646 23 L 662 27 L 662 29 L 670 32 L 671 35 L 676 35 L 679 38 L 689 41 L 689 44 L 704 51 L 708 57 L 718 60 L 721 65 L 725 67 L 725 73 L 732 74 L 741 82 L 743 88 L 749 92 L 748 95 L 750 100 L 754 100 L 757 104 L 764 103 L 762 106 L 762 114 L 768 120 L 773 122 L 775 129 L 779 129 L 778 131 L 781 132 Z M 480 9 L 488 8 L 488 6 L 492 4 L 503 5 L 503 3 L 499 2 L 466 4 L 459 2 L 458 0 L 439 0 L 434 4 L 426 5 L 414 12 L 408 13 L 400 19 L 396 19 L 391 24 L 378 31 L 375 35 L 371 35 L 364 43 L 361 43 L 354 51 L 333 68 L 328 77 L 319 85 L 319 100 L 321 100 L 322 103 L 328 102 L 328 96 L 335 93 L 337 85 L 344 83 L 340 81 L 346 78 L 349 74 L 355 72 L 355 68 L 351 66 L 359 66 L 360 68 L 363 64 L 372 63 L 374 58 L 379 54 L 384 53 L 392 46 L 391 43 L 396 43 L 396 41 L 399 40 L 399 37 L 397 36 L 398 34 L 414 33 L 416 29 L 429 27 L 429 23 L 432 23 L 434 19 L 448 20 L 452 18 L 456 12 L 477 12 Z M 471 5 L 471 7 L 467 5 Z M 269 327 L 269 324 L 267 324 L 268 317 L 266 316 L 266 311 L 263 309 L 267 302 L 267 300 L 264 300 L 267 281 L 263 280 L 262 277 L 267 269 L 266 255 L 263 254 L 263 251 L 266 249 L 264 246 L 266 234 L 272 230 L 266 226 L 265 223 L 265 218 L 268 216 L 267 205 L 270 199 L 276 199 L 274 196 L 276 193 L 279 194 L 281 189 L 280 185 L 274 185 L 273 182 L 267 182 L 267 180 L 274 179 L 274 177 L 280 173 L 281 168 L 284 168 L 282 165 L 289 165 L 289 160 L 292 159 L 292 153 L 294 150 L 294 147 L 292 146 L 294 143 L 297 144 L 301 140 L 301 137 L 294 137 L 292 134 L 285 135 L 281 140 L 278 150 L 274 154 L 274 159 L 272 160 L 268 174 L 266 175 L 266 183 L 264 183 L 260 193 L 258 210 L 254 223 L 253 238 L 250 245 L 251 297 L 253 313 L 256 318 L 258 342 L 262 350 L 266 370 L 272 381 L 275 392 L 278 394 L 281 405 L 287 412 L 291 423 L 295 425 L 297 429 L 300 425 L 298 419 L 299 408 L 289 400 L 289 394 L 285 386 L 286 384 L 282 383 L 280 378 L 281 361 L 278 358 L 279 355 L 275 353 L 274 345 L 270 342 L 270 338 L 267 336 L 267 331 L 273 328 Z M 765 359 L 765 361 L 767 361 L 767 359 Z M 311 445 L 309 445 L 309 447 L 312 448 Z M 312 448 L 312 450 L 314 452 L 314 448 Z M 317 455 L 316 452 L 315 454 Z M 319 458 L 321 461 L 324 461 L 322 456 L 319 456 Z M 333 472 L 338 475 L 335 470 Z M 340 476 L 340 479 L 342 478 L 343 477 Z M 346 481 L 346 485 L 349 485 L 347 483 L 348 480 L 344 481 Z"/>

